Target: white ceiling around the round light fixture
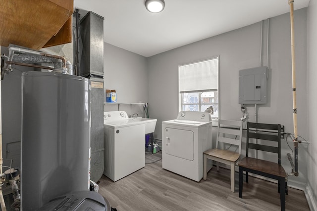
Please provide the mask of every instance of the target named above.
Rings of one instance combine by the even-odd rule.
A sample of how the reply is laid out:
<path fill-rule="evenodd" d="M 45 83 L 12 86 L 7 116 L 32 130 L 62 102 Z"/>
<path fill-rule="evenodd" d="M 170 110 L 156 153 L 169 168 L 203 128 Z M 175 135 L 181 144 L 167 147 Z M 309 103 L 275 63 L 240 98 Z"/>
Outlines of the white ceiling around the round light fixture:
<path fill-rule="evenodd" d="M 105 18 L 105 42 L 145 57 L 290 11 L 288 0 L 165 0 L 150 13 L 144 1 L 75 0 L 75 8 Z M 294 10 L 308 3 L 294 0 Z"/>

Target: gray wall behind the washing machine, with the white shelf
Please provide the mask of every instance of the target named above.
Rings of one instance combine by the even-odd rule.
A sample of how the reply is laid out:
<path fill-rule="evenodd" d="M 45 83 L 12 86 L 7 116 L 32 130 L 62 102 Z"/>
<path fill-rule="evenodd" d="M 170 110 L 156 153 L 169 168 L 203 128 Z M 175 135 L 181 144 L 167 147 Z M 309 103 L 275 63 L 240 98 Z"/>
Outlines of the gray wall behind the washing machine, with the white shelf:
<path fill-rule="evenodd" d="M 105 43 L 104 45 L 104 89 L 115 89 L 117 102 L 145 103 L 148 101 L 147 58 L 122 48 Z M 105 102 L 106 102 L 106 95 Z M 131 115 L 143 115 L 143 105 L 106 104 L 105 111 L 124 110 Z"/>

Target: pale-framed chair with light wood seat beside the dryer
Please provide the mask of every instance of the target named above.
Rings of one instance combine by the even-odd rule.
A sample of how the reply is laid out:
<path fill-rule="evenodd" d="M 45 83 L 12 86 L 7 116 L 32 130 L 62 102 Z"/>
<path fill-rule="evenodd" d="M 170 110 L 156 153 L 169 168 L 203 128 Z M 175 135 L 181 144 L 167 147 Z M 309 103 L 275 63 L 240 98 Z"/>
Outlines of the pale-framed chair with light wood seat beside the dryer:
<path fill-rule="evenodd" d="M 204 152 L 204 180 L 206 180 L 207 178 L 207 159 L 216 161 L 217 170 L 219 170 L 218 162 L 227 164 L 230 166 L 230 180 L 232 192 L 234 192 L 235 165 L 241 154 L 242 124 L 242 121 L 218 120 L 216 148 Z M 236 139 L 238 136 L 239 138 Z M 238 152 L 219 149 L 219 142 L 237 145 Z M 224 145 L 224 147 L 227 146 Z"/>

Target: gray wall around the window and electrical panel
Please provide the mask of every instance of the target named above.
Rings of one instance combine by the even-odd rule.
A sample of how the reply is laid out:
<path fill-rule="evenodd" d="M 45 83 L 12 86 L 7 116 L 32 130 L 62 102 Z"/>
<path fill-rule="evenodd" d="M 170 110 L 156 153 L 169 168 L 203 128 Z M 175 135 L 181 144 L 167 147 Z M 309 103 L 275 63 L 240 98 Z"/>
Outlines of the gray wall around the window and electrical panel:
<path fill-rule="evenodd" d="M 293 132 L 291 41 L 289 13 L 269 19 L 268 102 L 258 105 L 258 122 L 280 123 Z M 306 100 L 306 19 L 307 8 L 295 11 L 298 133 L 307 137 Z M 263 61 L 266 65 L 266 23 L 264 21 Z M 242 117 L 238 103 L 238 71 L 260 65 L 261 22 L 182 46 L 148 58 L 149 110 L 158 119 L 155 137 L 161 138 L 161 122 L 178 114 L 178 65 L 220 56 L 220 118 Z M 255 120 L 254 105 L 246 106 L 248 121 Z M 245 126 L 245 125 L 244 125 Z M 245 142 L 245 138 L 243 139 Z M 289 144 L 292 141 L 289 139 Z M 243 152 L 244 153 L 244 152 Z M 282 165 L 291 171 L 282 142 Z M 305 189 L 307 182 L 307 144 L 299 147 L 299 177 L 290 176 L 289 184 Z"/>

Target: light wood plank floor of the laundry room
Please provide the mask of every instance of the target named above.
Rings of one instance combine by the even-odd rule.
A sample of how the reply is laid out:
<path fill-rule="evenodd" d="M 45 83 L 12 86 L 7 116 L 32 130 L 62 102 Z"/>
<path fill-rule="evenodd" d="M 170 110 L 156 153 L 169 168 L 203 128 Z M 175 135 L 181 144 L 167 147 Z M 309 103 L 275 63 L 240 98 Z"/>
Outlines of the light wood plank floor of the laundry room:
<path fill-rule="evenodd" d="M 151 164 L 116 182 L 103 175 L 99 193 L 118 211 L 280 211 L 275 183 L 250 176 L 240 199 L 237 181 L 236 192 L 230 191 L 228 169 L 212 168 L 207 180 L 196 182 L 162 169 L 159 159 L 161 152 L 146 154 Z M 286 210 L 309 211 L 303 191 L 288 189 Z"/>

